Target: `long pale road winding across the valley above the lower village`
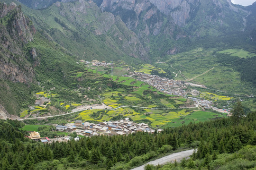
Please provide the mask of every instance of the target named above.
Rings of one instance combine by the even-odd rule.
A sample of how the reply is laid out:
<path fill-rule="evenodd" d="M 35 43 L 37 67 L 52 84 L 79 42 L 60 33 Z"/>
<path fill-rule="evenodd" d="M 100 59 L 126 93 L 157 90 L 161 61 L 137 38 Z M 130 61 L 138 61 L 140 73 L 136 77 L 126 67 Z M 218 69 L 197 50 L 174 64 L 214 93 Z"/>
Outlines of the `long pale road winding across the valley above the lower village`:
<path fill-rule="evenodd" d="M 173 110 L 173 109 L 191 109 L 191 108 L 197 108 L 198 104 L 195 104 L 196 106 L 194 107 L 181 107 L 181 108 L 149 108 L 149 107 L 141 107 L 141 106 L 120 106 L 117 108 L 113 108 L 113 109 L 104 109 L 104 110 L 117 110 L 120 108 L 124 108 L 124 107 L 136 107 L 136 108 L 142 108 L 142 109 L 154 109 L 154 110 L 159 110 L 159 109 L 163 109 L 163 110 Z M 80 112 L 80 111 L 85 111 L 88 109 L 83 109 L 83 110 L 76 110 L 76 111 L 72 111 L 70 113 L 64 113 L 64 114 L 59 114 L 59 115 L 53 115 L 53 116 L 43 116 L 43 117 L 37 117 L 37 118 L 25 118 L 25 119 L 18 119 L 18 121 L 22 121 L 22 120 L 28 120 L 28 119 L 45 119 L 45 118 L 53 118 L 53 117 L 57 117 L 57 116 L 64 116 L 64 115 L 68 115 L 68 114 L 72 114 L 72 113 L 76 113 L 76 112 Z"/>

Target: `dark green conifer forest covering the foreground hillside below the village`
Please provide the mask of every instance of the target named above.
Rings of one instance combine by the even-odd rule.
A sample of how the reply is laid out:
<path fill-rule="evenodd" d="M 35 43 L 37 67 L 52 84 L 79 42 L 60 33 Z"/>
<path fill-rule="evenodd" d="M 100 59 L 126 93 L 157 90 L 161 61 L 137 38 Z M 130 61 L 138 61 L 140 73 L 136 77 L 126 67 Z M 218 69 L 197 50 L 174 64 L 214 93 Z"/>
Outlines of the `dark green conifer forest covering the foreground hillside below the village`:
<path fill-rule="evenodd" d="M 243 162 L 240 164 L 241 169 L 253 168 L 256 166 L 255 146 L 247 145 L 256 144 L 256 113 L 249 113 L 247 117 L 242 118 L 236 114 L 239 109 L 240 105 L 237 104 L 233 111 L 236 116 L 228 119 L 166 128 L 162 133 L 92 136 L 83 137 L 79 141 L 53 144 L 33 142 L 24 137 L 24 131 L 18 130 L 23 126 L 20 122 L 1 120 L 0 168 L 127 170 L 165 153 L 186 148 L 197 148 L 197 152 L 191 159 L 170 166 L 177 166 L 177 169 L 215 169 L 219 168 L 219 165 L 231 166 L 231 162 L 240 160 Z M 238 155 L 228 155 L 234 152 L 238 152 Z"/>

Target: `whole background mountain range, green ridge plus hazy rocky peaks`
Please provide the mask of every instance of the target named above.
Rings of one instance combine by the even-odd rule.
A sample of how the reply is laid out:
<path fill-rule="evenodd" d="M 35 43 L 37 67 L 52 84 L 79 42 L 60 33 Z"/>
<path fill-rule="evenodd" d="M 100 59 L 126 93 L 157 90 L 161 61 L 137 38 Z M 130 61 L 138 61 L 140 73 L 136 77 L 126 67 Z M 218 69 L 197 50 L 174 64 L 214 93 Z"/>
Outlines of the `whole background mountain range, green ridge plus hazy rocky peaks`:
<path fill-rule="evenodd" d="M 93 57 L 104 60 L 107 60 L 104 53 L 108 52 L 116 55 L 123 52 L 122 59 L 126 59 L 125 56 L 128 55 L 146 61 L 155 60 L 198 46 L 255 50 L 252 40 L 249 40 L 253 37 L 250 34 L 256 23 L 253 17 L 255 5 L 242 7 L 232 4 L 231 0 L 61 0 L 61 2 L 20 0 L 20 2 L 30 8 L 40 8 L 41 10 L 25 9 L 25 11 L 36 26 L 47 30 L 56 42 L 78 56 L 83 56 L 86 50 L 91 51 L 87 43 L 98 44 L 98 41 L 101 43 L 99 35 L 108 37 L 109 41 L 103 38 L 104 43 L 101 47 L 98 48 L 97 45 L 91 47 L 97 51 L 96 56 Z M 56 5 L 59 8 L 56 8 Z M 74 13 L 73 9 L 80 7 L 84 11 Z M 54 17 L 47 15 L 49 11 Z M 40 16 L 44 16 L 47 22 L 40 21 Z M 82 20 L 82 18 L 87 19 Z M 109 18 L 109 21 L 114 21 L 115 18 L 116 21 L 104 22 L 106 18 Z M 64 33 L 55 24 L 56 21 L 70 27 L 65 28 Z M 81 23 L 86 23 L 86 27 Z M 119 27 L 120 25 L 122 28 Z M 119 35 L 113 34 L 114 32 Z M 75 36 L 78 33 L 79 37 L 91 38 L 93 41 L 79 40 L 79 37 Z M 127 39 L 128 34 L 132 36 L 130 39 Z M 76 40 L 63 42 L 64 38 Z M 122 39 L 122 45 L 119 44 L 118 39 Z M 84 45 L 81 46 L 81 43 Z M 109 43 L 112 45 L 106 45 Z M 74 49 L 71 48 L 72 44 L 76 44 Z M 128 48 L 128 46 L 133 47 Z M 104 52 L 100 49 L 104 49 Z M 91 59 L 89 57 L 91 55 L 92 52 L 89 52 L 87 57 Z M 112 59 L 116 59 L 114 56 Z"/>

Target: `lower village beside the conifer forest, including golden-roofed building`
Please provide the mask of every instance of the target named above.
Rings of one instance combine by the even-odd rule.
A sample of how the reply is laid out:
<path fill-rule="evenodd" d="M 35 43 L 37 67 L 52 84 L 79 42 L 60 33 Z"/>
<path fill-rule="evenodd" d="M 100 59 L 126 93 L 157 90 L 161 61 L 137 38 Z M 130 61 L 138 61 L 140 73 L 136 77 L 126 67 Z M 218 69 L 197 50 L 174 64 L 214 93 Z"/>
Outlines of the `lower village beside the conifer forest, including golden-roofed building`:
<path fill-rule="evenodd" d="M 146 123 L 135 123 L 130 121 L 129 118 L 118 121 L 108 121 L 108 122 L 97 122 L 97 124 L 90 122 L 82 122 L 82 120 L 75 120 L 74 123 L 68 123 L 65 125 L 56 125 L 56 131 L 61 132 L 75 132 L 80 136 L 113 136 L 113 135 L 128 135 L 136 132 L 147 132 L 155 133 L 161 132 L 162 129 L 154 130 L 148 126 Z M 41 137 L 38 132 L 31 132 L 28 136 L 30 139 L 41 141 L 43 143 L 52 143 L 53 141 L 65 141 L 67 142 L 71 138 L 68 136 L 59 137 L 56 136 L 53 139 L 48 137 Z M 79 137 L 75 137 L 74 140 L 79 140 Z"/>

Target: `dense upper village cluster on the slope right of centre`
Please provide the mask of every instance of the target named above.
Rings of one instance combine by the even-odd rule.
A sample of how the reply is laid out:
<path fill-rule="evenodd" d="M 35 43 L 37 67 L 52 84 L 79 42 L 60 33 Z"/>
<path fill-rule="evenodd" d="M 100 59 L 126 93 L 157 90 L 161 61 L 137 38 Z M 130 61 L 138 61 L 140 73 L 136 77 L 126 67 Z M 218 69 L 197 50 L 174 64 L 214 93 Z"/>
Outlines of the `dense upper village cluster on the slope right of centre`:
<path fill-rule="evenodd" d="M 141 72 L 129 72 L 128 75 L 131 75 L 133 78 L 137 78 L 138 81 L 143 81 L 148 85 L 155 87 L 157 90 L 162 91 L 166 94 L 173 94 L 179 96 L 185 96 L 187 94 L 187 87 L 181 82 L 169 78 L 163 78 L 156 75 L 145 74 Z"/>

